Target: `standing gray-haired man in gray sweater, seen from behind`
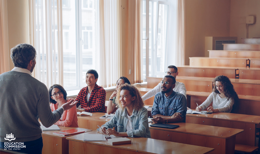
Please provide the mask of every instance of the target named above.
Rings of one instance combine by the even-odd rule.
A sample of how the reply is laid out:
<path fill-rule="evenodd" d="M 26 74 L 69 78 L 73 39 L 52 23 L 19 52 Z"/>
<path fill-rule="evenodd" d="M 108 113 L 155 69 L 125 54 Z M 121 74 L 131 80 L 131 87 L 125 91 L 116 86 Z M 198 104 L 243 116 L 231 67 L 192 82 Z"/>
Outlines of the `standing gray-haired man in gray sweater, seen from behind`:
<path fill-rule="evenodd" d="M 51 112 L 46 85 L 31 76 L 36 64 L 35 48 L 18 44 L 11 49 L 11 58 L 15 68 L 0 75 L 0 148 L 42 153 L 38 119 L 49 127 L 60 119 L 64 110 L 78 102 L 70 101 Z"/>

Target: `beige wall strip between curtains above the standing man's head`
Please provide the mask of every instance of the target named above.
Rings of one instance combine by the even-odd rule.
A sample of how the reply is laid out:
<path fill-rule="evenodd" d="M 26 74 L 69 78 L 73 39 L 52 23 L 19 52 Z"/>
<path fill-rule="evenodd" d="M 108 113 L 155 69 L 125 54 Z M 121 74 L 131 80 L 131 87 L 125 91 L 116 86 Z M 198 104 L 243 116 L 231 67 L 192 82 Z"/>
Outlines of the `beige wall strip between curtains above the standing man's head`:
<path fill-rule="evenodd" d="M 8 43 L 10 49 L 20 43 L 29 43 L 29 16 L 28 0 L 8 0 Z M 10 58 L 10 56 L 9 56 Z M 9 60 L 10 70 L 14 68 L 13 62 Z"/>

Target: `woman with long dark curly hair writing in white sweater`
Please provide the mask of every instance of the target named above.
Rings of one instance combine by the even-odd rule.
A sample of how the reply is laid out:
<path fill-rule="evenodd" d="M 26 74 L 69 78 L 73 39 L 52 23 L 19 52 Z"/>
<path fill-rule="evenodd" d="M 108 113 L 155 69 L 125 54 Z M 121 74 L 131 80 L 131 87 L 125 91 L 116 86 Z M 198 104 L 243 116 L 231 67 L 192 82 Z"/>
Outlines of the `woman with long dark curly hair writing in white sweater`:
<path fill-rule="evenodd" d="M 238 101 L 238 96 L 235 89 L 227 76 L 217 76 L 213 79 L 215 85 L 213 92 L 199 107 L 196 111 L 205 110 L 210 103 L 212 106 L 208 107 L 207 110 L 210 112 L 231 112 L 235 102 Z"/>

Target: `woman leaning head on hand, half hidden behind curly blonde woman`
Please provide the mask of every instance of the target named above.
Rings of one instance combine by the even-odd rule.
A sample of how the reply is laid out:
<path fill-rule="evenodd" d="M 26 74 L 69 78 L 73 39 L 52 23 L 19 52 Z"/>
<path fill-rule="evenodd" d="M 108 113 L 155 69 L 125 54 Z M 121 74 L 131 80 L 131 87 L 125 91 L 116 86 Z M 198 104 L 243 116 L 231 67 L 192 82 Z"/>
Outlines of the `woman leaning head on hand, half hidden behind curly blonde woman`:
<path fill-rule="evenodd" d="M 110 96 L 109 102 L 107 104 L 107 114 L 110 114 L 113 112 L 113 110 L 116 108 L 116 94 L 118 92 L 118 88 L 125 84 L 128 83 L 129 85 L 131 85 L 130 81 L 128 80 L 128 78 L 121 76 L 117 81 L 116 81 L 116 90 L 113 92 L 113 94 Z"/>

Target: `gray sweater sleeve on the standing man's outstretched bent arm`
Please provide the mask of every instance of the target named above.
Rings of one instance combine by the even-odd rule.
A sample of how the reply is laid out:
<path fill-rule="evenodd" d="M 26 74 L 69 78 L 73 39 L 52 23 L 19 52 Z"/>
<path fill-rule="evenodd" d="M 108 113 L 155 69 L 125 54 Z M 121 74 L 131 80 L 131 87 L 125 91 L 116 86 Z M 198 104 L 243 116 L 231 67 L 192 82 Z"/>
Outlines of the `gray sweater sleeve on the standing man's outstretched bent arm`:
<path fill-rule="evenodd" d="M 40 121 L 42 122 L 42 125 L 45 127 L 50 127 L 60 119 L 63 113 L 63 109 L 58 108 L 57 110 L 51 112 L 51 108 L 49 105 L 50 96 L 49 96 L 48 89 L 46 85 L 41 86 L 39 88 L 42 90 L 40 90 L 41 94 L 40 94 L 39 101 L 37 103 L 37 114 L 39 116 Z"/>

